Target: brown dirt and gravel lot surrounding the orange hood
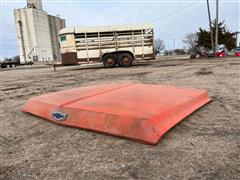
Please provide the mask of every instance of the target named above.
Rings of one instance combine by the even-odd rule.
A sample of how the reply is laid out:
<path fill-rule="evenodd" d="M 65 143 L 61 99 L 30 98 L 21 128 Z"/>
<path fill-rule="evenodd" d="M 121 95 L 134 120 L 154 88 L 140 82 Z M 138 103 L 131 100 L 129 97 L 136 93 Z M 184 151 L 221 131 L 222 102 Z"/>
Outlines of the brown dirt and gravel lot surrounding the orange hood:
<path fill-rule="evenodd" d="M 168 60 L 1 71 L 0 179 L 239 179 L 240 61 Z M 34 96 L 90 84 L 140 82 L 206 89 L 212 102 L 149 146 L 63 127 L 21 112 Z"/>

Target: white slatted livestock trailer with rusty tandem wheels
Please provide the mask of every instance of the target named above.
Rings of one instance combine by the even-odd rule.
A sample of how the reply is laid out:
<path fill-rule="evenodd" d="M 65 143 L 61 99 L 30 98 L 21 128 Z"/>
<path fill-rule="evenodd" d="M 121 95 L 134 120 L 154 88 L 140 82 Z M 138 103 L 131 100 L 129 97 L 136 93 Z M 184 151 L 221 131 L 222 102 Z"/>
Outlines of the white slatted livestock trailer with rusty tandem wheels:
<path fill-rule="evenodd" d="M 64 28 L 59 32 L 62 64 L 127 67 L 133 61 L 154 59 L 153 34 L 149 24 Z"/>

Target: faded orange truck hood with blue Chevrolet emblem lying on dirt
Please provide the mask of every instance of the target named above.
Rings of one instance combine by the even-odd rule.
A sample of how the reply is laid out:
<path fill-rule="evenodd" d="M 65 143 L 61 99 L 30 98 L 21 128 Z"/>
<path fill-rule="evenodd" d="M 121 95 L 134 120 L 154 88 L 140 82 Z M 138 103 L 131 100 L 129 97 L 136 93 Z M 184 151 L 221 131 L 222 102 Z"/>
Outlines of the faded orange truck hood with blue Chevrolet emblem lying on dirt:
<path fill-rule="evenodd" d="M 57 124 L 155 145 L 211 101 L 207 91 L 154 84 L 103 84 L 29 99 L 23 111 Z"/>

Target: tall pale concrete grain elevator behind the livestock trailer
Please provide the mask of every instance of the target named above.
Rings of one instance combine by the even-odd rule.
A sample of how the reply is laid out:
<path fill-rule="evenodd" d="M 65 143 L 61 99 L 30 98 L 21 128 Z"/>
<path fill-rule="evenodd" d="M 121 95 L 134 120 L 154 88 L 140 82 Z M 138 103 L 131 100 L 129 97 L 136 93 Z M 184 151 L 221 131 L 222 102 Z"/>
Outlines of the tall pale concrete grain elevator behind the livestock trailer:
<path fill-rule="evenodd" d="M 14 10 L 20 63 L 60 60 L 58 32 L 65 20 L 42 10 L 41 0 L 27 0 L 27 7 Z"/>

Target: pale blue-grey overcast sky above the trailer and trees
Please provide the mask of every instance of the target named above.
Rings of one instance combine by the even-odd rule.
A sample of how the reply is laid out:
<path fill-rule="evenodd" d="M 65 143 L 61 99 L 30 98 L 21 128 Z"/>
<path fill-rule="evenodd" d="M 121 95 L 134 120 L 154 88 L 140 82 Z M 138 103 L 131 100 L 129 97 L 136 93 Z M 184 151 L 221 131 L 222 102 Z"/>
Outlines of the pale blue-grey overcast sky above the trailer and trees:
<path fill-rule="evenodd" d="M 13 9 L 26 6 L 25 0 L 1 1 L 1 57 L 18 54 Z M 219 0 L 220 20 L 232 31 L 240 30 L 240 0 Z M 210 0 L 215 17 L 215 0 Z M 146 23 L 154 25 L 155 38 L 163 39 L 167 49 L 182 48 L 182 39 L 199 27 L 208 28 L 206 0 L 45 0 L 49 14 L 59 14 L 67 26 L 96 26 Z M 156 20 L 157 19 L 157 20 Z"/>

